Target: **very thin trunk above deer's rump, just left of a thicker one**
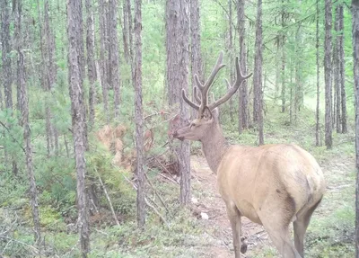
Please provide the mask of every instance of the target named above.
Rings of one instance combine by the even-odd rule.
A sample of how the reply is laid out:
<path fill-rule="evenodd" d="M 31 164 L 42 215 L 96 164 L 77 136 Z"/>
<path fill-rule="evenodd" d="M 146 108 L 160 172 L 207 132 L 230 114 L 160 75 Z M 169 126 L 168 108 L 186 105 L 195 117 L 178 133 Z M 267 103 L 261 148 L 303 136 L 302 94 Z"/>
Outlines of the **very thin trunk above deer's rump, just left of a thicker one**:
<path fill-rule="evenodd" d="M 317 107 L 315 110 L 315 146 L 320 146 L 320 8 L 319 2 L 316 5 L 317 8 L 317 21 L 316 21 L 316 63 L 317 63 Z"/>

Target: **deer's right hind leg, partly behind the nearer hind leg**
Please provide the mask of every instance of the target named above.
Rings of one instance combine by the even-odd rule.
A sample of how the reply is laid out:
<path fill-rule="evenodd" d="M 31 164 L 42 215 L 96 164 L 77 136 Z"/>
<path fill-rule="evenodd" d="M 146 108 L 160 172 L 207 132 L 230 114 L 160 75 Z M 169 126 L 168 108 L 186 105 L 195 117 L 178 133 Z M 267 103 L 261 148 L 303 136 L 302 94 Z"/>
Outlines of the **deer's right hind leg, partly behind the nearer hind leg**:
<path fill-rule="evenodd" d="M 294 245 L 298 253 L 301 254 L 302 258 L 304 257 L 304 236 L 311 221 L 311 215 L 314 210 L 317 209 L 320 204 L 320 200 L 314 204 L 310 209 L 304 207 L 303 210 L 300 210 L 297 214 L 297 219 L 293 222 L 294 229 Z"/>

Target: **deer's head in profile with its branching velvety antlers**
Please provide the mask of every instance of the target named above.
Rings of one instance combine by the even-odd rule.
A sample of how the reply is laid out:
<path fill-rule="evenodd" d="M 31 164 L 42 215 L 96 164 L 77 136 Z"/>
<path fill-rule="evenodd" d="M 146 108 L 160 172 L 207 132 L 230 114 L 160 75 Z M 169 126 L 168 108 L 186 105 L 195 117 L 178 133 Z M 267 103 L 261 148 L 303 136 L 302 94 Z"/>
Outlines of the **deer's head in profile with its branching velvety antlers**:
<path fill-rule="evenodd" d="M 188 139 L 188 140 L 202 140 L 206 136 L 213 135 L 212 130 L 217 129 L 219 127 L 218 122 L 218 109 L 217 107 L 227 102 L 234 93 L 237 92 L 241 83 L 252 76 L 250 73 L 247 76 L 243 76 L 241 74 L 241 67 L 239 64 L 238 57 L 235 59 L 236 66 L 236 80 L 233 85 L 230 85 L 228 80 L 225 82 L 228 85 L 228 92 L 220 99 L 215 100 L 214 95 L 212 94 L 212 102 L 208 103 L 208 92 L 209 88 L 213 85 L 215 76 L 218 72 L 225 67 L 223 62 L 223 52 L 220 53 L 217 62 L 215 63 L 215 67 L 212 70 L 211 75 L 206 80 L 206 83 L 203 85 L 198 76 L 195 75 L 195 80 L 197 86 L 194 86 L 193 95 L 195 102 L 191 102 L 186 95 L 184 89 L 182 89 L 182 98 L 188 105 L 195 110 L 197 110 L 197 118 L 195 120 L 190 121 L 189 125 L 177 130 L 174 134 L 174 138 L 179 138 L 180 140 Z"/>

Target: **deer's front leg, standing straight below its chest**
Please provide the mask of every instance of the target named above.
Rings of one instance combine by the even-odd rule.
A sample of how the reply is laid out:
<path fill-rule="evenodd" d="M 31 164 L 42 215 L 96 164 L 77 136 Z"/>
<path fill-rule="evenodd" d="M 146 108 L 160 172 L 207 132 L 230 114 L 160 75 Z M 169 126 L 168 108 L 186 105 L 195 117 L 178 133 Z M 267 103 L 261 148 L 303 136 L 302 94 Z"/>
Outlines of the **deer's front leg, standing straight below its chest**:
<path fill-rule="evenodd" d="M 232 227 L 235 258 L 241 258 L 241 213 L 232 202 L 226 203 L 226 208 Z"/>

